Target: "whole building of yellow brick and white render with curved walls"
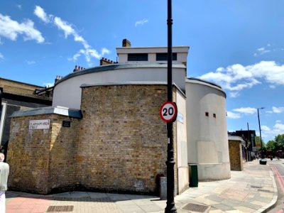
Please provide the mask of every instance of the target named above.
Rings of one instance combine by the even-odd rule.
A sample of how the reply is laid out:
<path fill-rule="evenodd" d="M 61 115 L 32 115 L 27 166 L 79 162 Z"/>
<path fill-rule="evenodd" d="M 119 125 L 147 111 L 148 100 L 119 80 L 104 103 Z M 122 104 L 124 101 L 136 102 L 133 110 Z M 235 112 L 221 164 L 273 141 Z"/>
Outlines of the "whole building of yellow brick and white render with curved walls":
<path fill-rule="evenodd" d="M 198 158 L 197 162 L 202 168 L 198 173 L 204 177 L 212 174 L 208 179 L 221 180 L 230 176 L 224 137 L 226 95 L 221 87 L 208 82 L 185 80 L 188 50 L 187 46 L 173 47 L 173 101 L 178 106 L 173 124 L 175 194 L 189 186 L 188 163 L 195 162 L 188 161 L 188 151 L 207 155 L 205 161 Z M 168 137 L 159 115 L 167 98 L 167 48 L 132 48 L 124 42 L 116 51 L 118 62 L 103 58 L 99 67 L 75 67 L 58 80 L 52 107 L 13 114 L 10 189 L 40 194 L 75 189 L 158 191 L 158 178 L 167 175 Z M 195 97 L 197 106 L 188 107 L 185 92 L 191 92 L 187 87 L 197 88 L 193 84 L 203 92 Z M 204 102 L 202 96 L 209 98 Z M 194 114 L 199 104 L 212 99 L 215 101 L 198 113 L 204 116 L 206 110 L 215 116 L 202 117 L 198 124 L 212 128 L 210 132 L 215 134 L 204 138 L 200 133 L 189 142 L 187 114 Z"/>

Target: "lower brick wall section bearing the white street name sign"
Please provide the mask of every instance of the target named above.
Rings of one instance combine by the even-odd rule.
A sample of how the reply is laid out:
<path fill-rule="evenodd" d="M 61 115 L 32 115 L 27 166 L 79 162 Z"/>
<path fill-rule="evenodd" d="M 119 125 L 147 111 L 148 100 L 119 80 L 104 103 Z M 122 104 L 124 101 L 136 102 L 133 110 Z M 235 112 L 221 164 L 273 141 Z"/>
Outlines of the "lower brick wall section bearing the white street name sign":
<path fill-rule="evenodd" d="M 29 121 L 50 119 L 50 129 L 29 130 Z M 71 127 L 62 127 L 70 120 Z M 76 181 L 77 119 L 57 114 L 14 117 L 11 121 L 7 163 L 9 188 L 47 194 L 53 188 L 73 187 Z"/>

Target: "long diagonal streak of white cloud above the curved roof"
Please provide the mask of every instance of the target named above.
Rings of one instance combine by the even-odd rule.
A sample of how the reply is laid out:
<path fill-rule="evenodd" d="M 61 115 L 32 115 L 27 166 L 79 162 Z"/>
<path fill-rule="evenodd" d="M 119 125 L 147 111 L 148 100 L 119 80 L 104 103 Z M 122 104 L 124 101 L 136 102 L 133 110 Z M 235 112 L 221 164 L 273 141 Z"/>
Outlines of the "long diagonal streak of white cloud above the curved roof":
<path fill-rule="evenodd" d="M 53 23 L 58 27 L 59 30 L 64 32 L 65 38 L 69 35 L 72 35 L 76 42 L 81 43 L 84 46 L 84 49 L 80 49 L 72 58 L 68 58 L 68 60 L 77 60 L 81 55 L 84 55 L 86 61 L 91 64 L 92 58 L 99 59 L 105 54 L 109 54 L 110 51 L 107 48 L 102 48 L 101 53 L 92 48 L 87 40 L 77 33 L 72 23 L 68 23 L 67 21 L 62 20 L 62 18 L 53 16 L 51 14 L 46 14 L 44 9 L 40 6 L 35 6 L 35 15 L 38 16 L 41 20 L 45 21 L 45 23 Z"/>

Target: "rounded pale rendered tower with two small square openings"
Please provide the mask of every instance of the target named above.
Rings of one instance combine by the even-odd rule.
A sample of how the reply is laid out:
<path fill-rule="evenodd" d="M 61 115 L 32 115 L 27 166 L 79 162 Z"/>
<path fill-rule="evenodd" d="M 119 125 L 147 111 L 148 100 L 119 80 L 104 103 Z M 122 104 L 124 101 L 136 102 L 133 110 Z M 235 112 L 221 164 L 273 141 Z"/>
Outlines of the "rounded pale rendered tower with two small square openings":
<path fill-rule="evenodd" d="M 228 179 L 226 94 L 221 87 L 197 79 L 187 79 L 185 90 L 188 163 L 197 164 L 199 180 Z"/>

